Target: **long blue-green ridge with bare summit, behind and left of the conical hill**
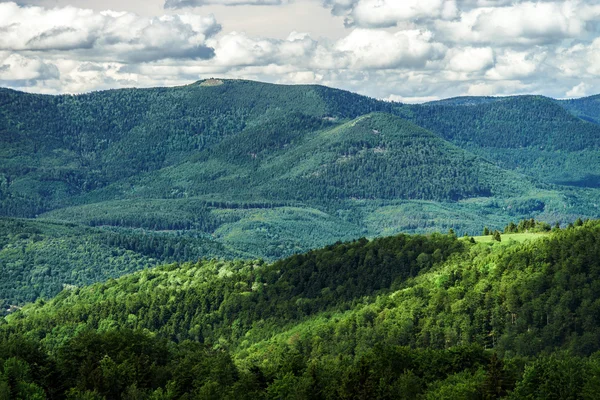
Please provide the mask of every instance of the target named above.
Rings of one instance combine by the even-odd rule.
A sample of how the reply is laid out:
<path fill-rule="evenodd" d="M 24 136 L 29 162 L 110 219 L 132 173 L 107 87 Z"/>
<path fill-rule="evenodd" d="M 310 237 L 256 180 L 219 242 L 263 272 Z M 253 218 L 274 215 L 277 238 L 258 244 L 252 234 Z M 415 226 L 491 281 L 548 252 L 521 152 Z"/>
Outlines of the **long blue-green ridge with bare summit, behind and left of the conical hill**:
<path fill-rule="evenodd" d="M 273 116 L 352 118 L 386 108 L 325 87 L 249 81 L 78 96 L 2 89 L 0 213 L 55 208 L 73 195 L 180 163 Z"/>

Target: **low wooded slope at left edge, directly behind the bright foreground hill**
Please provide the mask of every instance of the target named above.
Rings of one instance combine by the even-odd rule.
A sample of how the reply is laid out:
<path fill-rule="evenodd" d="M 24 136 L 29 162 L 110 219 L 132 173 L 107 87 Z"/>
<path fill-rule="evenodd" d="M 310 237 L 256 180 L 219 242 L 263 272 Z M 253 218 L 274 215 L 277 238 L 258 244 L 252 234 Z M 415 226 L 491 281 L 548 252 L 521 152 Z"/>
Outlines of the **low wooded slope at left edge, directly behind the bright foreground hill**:
<path fill-rule="evenodd" d="M 208 237 L 0 218 L 0 311 L 165 261 L 243 256 Z"/>

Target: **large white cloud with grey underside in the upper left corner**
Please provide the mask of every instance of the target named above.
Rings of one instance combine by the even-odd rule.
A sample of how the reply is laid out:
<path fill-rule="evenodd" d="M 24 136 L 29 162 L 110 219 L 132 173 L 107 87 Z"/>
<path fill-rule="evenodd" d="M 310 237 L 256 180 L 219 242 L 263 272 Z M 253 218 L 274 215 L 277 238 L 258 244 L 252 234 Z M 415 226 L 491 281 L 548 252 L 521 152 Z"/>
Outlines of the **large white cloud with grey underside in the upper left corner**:
<path fill-rule="evenodd" d="M 214 50 L 206 40 L 220 29 L 214 16 L 143 18 L 126 12 L 0 3 L 0 50 L 8 51 L 72 51 L 126 62 L 207 59 L 214 56 Z"/>

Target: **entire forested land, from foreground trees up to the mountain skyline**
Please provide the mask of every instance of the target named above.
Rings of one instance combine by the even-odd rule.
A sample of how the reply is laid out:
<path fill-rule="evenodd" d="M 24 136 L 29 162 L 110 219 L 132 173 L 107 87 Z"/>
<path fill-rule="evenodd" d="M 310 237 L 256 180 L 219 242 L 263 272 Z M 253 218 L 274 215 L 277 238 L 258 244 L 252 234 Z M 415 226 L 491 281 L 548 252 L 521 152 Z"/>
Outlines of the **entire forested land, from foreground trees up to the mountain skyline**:
<path fill-rule="evenodd" d="M 597 399 L 598 104 L 0 88 L 0 399 Z"/>

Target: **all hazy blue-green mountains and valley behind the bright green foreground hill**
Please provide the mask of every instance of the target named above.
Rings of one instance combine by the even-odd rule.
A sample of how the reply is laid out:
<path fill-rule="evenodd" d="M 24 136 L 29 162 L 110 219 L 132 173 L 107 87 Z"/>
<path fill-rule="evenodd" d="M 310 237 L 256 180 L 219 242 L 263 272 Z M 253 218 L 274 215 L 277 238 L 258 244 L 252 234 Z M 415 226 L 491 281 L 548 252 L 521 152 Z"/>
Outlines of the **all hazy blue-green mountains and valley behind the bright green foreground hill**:
<path fill-rule="evenodd" d="M 275 259 L 361 236 L 597 217 L 597 104 L 519 96 L 404 105 L 219 79 L 77 96 L 2 89 L 0 214 L 38 220 L 7 222 L 15 231 L 6 242 L 31 252 L 17 280 L 28 294 L 7 299 L 169 260 Z M 46 276 L 40 254 L 56 229 L 93 233 L 99 265 L 114 246 L 140 262 L 73 273 L 62 261 Z M 175 249 L 174 238 L 190 244 Z M 0 250 L 0 266 L 14 257 Z"/>

